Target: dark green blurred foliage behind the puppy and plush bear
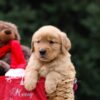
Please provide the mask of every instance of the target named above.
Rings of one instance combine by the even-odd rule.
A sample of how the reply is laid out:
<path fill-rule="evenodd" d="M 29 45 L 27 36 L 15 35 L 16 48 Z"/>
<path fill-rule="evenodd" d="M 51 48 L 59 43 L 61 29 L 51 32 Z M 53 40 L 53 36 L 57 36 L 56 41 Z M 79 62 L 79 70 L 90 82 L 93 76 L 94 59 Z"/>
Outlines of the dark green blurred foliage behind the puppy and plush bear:
<path fill-rule="evenodd" d="M 100 0 L 0 0 L 0 20 L 15 23 L 29 47 L 43 25 L 66 32 L 77 70 L 76 100 L 100 100 Z"/>

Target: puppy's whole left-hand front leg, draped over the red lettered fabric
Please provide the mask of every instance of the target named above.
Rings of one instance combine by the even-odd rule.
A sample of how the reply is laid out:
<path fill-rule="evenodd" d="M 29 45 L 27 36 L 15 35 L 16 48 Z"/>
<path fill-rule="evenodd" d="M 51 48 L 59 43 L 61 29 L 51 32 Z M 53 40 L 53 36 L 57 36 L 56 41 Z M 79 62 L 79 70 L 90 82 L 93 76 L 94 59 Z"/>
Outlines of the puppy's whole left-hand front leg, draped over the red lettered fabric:
<path fill-rule="evenodd" d="M 38 81 L 38 63 L 35 61 L 34 56 L 31 55 L 29 63 L 25 70 L 24 86 L 27 90 L 33 90 Z"/>

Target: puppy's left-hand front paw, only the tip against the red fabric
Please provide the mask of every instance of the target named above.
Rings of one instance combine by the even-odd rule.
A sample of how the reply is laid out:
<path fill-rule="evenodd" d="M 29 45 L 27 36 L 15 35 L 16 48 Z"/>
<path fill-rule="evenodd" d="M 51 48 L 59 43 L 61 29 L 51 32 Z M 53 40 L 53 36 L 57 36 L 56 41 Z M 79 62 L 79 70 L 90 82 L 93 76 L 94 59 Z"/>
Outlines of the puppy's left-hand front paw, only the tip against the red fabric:
<path fill-rule="evenodd" d="M 24 87 L 26 90 L 31 91 L 36 88 L 36 80 L 24 81 Z"/>

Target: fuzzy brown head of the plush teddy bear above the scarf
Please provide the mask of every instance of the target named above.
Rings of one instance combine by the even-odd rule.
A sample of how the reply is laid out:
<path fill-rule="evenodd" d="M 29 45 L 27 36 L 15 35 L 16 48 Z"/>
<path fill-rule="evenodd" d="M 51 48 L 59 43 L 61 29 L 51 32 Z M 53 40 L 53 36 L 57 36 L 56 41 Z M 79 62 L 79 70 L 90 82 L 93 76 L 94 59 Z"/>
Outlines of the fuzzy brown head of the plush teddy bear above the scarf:
<path fill-rule="evenodd" d="M 17 26 L 11 22 L 0 21 L 0 46 L 10 40 L 20 41 Z"/>

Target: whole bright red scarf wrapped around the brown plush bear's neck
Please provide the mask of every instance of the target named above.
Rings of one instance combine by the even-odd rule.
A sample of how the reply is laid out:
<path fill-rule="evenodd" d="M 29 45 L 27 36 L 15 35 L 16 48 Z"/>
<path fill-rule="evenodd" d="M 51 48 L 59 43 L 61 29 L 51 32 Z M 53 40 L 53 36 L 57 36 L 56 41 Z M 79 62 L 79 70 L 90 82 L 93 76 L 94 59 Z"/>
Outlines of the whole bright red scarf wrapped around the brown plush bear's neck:
<path fill-rule="evenodd" d="M 25 68 L 26 61 L 19 41 L 12 40 L 0 48 L 0 58 L 11 52 L 11 68 Z"/>

